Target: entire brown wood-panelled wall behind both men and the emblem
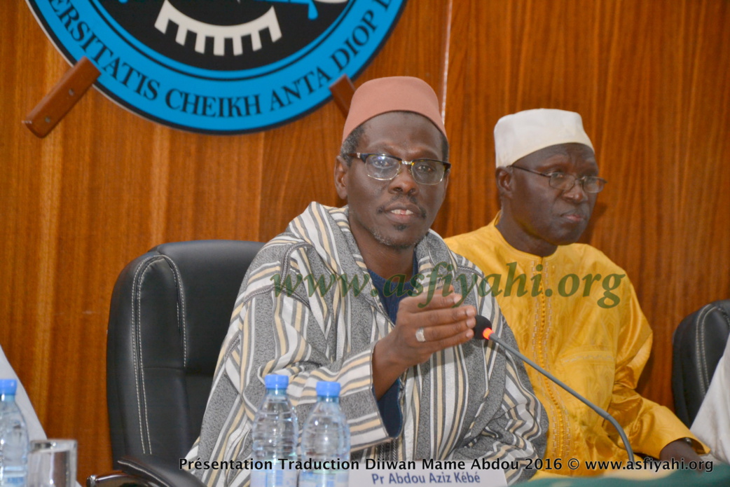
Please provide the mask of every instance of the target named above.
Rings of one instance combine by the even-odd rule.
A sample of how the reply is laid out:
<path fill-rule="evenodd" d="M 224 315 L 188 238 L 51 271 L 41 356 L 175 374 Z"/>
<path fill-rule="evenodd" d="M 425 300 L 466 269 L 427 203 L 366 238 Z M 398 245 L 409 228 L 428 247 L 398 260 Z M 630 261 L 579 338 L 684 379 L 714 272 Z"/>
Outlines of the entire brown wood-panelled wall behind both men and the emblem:
<path fill-rule="evenodd" d="M 730 294 L 729 4 L 723 0 L 410 0 L 356 85 L 409 74 L 445 100 L 454 163 L 435 228 L 498 204 L 492 129 L 538 106 L 583 113 L 610 185 L 587 236 L 624 266 L 656 332 L 645 391 L 670 404 L 669 337 Z M 265 240 L 306 204 L 339 204 L 342 114 L 189 134 L 91 90 L 43 140 L 20 120 L 68 66 L 23 1 L 0 31 L 0 344 L 79 477 L 110 467 L 105 334 L 120 269 L 183 239 Z"/>

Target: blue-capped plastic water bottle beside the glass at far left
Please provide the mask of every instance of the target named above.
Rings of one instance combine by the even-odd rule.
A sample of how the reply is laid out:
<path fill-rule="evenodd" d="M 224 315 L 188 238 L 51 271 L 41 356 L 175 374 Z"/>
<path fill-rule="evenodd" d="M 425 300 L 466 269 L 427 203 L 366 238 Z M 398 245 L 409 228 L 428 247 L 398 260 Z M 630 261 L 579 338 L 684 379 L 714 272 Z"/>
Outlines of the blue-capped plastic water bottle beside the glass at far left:
<path fill-rule="evenodd" d="M 0 379 L 0 486 L 25 487 L 28 473 L 28 429 L 15 390 L 18 381 Z"/>

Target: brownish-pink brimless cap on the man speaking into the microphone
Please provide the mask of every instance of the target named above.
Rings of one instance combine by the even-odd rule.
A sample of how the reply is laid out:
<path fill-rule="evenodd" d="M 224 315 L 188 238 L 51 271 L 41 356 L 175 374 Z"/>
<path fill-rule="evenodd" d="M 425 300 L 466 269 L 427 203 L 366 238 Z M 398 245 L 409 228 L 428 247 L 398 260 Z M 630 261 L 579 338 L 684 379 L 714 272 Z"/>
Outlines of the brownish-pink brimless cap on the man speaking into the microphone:
<path fill-rule="evenodd" d="M 420 78 L 392 76 L 370 80 L 355 91 L 342 131 L 342 142 L 350 132 L 374 116 L 399 111 L 429 118 L 446 135 L 439 99 L 433 88 Z"/>

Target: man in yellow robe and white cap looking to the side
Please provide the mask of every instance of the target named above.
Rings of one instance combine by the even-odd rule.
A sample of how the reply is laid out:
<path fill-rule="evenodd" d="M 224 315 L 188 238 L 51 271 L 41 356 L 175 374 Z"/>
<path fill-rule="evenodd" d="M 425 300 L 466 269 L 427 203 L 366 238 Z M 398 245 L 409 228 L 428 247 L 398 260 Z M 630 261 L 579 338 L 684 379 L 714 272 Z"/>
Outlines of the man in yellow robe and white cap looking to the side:
<path fill-rule="evenodd" d="M 475 262 L 526 356 L 613 415 L 637 453 L 699 461 L 704 445 L 666 407 L 636 391 L 652 331 L 634 287 L 600 250 L 575 243 L 606 183 L 580 115 L 527 110 L 494 129 L 502 211 L 446 239 Z M 626 460 L 613 426 L 528 367 L 550 426 L 543 469 L 596 475 L 585 461 Z M 569 459 L 580 467 L 566 468 Z"/>

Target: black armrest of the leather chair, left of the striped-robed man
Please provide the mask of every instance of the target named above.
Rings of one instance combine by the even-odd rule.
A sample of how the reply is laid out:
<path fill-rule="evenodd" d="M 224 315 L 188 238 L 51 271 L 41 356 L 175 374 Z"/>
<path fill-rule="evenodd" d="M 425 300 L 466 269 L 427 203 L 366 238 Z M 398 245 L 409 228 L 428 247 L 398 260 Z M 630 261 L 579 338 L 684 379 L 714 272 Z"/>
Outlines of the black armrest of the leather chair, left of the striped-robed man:
<path fill-rule="evenodd" d="M 180 466 L 152 455 L 123 456 L 119 459 L 121 472 L 91 475 L 87 487 L 206 487 L 190 472 Z"/>

